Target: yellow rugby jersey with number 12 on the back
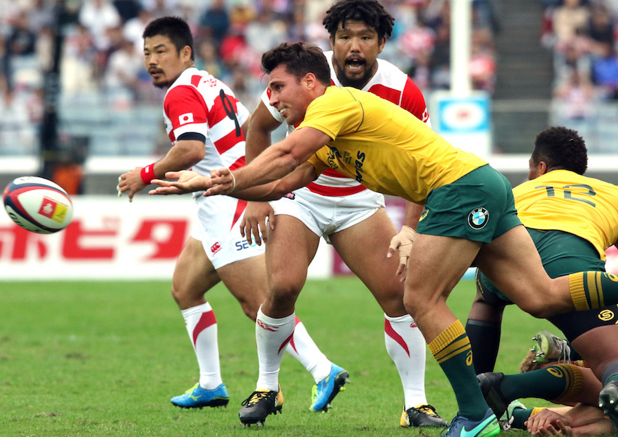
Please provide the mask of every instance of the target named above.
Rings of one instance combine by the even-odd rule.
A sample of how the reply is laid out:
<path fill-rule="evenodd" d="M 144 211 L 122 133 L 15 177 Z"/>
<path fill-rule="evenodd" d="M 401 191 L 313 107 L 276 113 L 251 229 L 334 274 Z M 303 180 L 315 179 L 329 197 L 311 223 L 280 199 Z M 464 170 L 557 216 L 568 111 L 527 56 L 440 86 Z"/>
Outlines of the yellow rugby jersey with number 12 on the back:
<path fill-rule="evenodd" d="M 590 241 L 605 259 L 618 241 L 618 187 L 569 170 L 553 170 L 513 189 L 527 228 L 568 232 Z"/>

